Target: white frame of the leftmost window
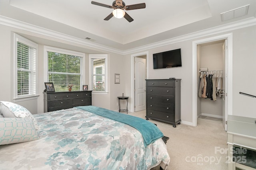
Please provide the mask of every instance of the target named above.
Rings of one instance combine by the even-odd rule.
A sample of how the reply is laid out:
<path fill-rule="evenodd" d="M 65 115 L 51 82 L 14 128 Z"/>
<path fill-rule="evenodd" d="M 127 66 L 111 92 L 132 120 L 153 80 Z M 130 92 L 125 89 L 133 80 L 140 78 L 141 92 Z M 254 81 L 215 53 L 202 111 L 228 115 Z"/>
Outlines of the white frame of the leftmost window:
<path fill-rule="evenodd" d="M 17 68 L 17 42 L 20 42 L 22 44 L 28 45 L 29 47 L 32 47 L 36 50 L 36 55 L 35 55 L 35 72 L 34 76 L 35 76 L 35 83 L 34 83 L 34 88 L 35 88 L 35 93 L 34 94 L 26 94 L 26 95 L 19 95 L 18 96 L 18 68 Z M 14 100 L 16 102 L 19 101 L 24 101 L 24 100 L 31 100 L 34 98 L 38 98 L 38 44 L 34 43 L 33 41 L 30 41 L 29 39 L 26 39 L 16 33 L 14 33 Z M 30 56 L 30 60 L 31 60 L 31 56 Z M 29 85 L 31 86 L 31 84 Z M 30 93 L 30 92 L 29 92 Z"/>

